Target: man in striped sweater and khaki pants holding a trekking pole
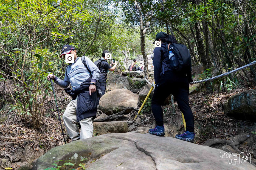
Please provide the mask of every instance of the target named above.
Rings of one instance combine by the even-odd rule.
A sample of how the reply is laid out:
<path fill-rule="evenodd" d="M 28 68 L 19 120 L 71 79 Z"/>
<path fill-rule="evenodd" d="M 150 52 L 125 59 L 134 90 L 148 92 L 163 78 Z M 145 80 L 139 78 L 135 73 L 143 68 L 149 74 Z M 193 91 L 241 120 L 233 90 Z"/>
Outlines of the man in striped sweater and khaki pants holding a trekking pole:
<path fill-rule="evenodd" d="M 47 75 L 47 79 L 50 81 L 52 78 L 57 85 L 63 88 L 67 88 L 71 83 L 72 90 L 67 88 L 65 91 L 72 96 L 72 100 L 62 117 L 67 133 L 74 141 L 92 137 L 92 119 L 96 117 L 97 112 L 100 71 L 88 57 L 77 57 L 77 51 L 73 46 L 62 47 L 60 57 L 65 58 L 66 54 L 74 54 L 75 62 L 66 67 L 64 80 L 53 74 Z M 81 126 L 81 133 L 79 133 L 77 124 Z"/>

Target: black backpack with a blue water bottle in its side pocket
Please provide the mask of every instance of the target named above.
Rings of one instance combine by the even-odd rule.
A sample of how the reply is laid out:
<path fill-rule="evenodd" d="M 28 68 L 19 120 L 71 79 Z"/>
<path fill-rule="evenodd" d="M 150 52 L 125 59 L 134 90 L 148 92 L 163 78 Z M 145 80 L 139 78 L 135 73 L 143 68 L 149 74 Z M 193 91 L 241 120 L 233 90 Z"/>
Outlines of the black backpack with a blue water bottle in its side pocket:
<path fill-rule="evenodd" d="M 169 51 L 172 51 L 176 57 L 176 60 L 178 60 L 178 66 L 172 67 L 171 69 L 174 72 L 183 72 L 186 71 L 186 69 L 189 68 L 191 65 L 191 56 L 189 49 L 183 45 L 183 44 L 176 44 L 176 43 L 169 43 L 166 46 L 167 52 L 169 54 Z"/>

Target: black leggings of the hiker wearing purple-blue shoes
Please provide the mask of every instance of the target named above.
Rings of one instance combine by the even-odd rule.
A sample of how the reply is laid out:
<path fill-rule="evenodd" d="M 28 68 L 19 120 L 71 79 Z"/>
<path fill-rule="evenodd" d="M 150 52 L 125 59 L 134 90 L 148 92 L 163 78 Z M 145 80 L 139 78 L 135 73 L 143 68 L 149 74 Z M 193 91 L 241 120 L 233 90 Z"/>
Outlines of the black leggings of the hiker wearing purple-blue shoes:
<path fill-rule="evenodd" d="M 194 132 L 194 116 L 189 106 L 189 83 L 186 77 L 179 77 L 171 71 L 161 75 L 159 86 L 155 88 L 151 102 L 156 125 L 163 126 L 163 111 L 161 105 L 173 94 L 179 109 L 184 115 L 186 131 Z"/>

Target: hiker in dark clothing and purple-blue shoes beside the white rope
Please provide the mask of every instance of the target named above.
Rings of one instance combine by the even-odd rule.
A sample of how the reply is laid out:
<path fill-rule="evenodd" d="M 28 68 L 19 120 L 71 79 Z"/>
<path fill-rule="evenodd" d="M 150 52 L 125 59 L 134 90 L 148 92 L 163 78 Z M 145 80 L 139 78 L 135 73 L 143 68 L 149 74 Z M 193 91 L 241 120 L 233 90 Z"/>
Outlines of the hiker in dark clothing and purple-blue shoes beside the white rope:
<path fill-rule="evenodd" d="M 174 36 L 164 32 L 157 33 L 156 40 L 161 41 L 161 47 L 154 49 L 153 61 L 156 87 L 151 101 L 151 109 L 156 127 L 150 129 L 149 133 L 157 136 L 165 135 L 161 105 L 170 94 L 173 94 L 187 125 L 185 132 L 181 135 L 176 134 L 175 137 L 193 142 L 195 137 L 194 116 L 189 106 L 189 82 L 193 80 L 189 50 L 185 45 L 178 44 Z"/>

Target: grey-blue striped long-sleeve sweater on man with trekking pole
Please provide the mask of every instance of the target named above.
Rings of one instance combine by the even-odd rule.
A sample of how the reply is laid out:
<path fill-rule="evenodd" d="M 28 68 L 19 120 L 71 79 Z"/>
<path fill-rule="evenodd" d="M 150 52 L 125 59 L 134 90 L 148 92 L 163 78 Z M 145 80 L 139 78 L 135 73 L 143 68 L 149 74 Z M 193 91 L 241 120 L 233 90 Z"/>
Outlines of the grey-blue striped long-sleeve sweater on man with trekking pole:
<path fill-rule="evenodd" d="M 99 80 L 100 70 L 99 68 L 88 58 L 85 57 L 86 64 L 89 70 L 92 72 L 92 82 Z M 71 83 L 72 89 L 80 87 L 80 85 L 91 77 L 90 72 L 87 70 L 86 66 L 83 64 L 81 57 L 77 57 L 74 63 L 67 66 L 67 71 L 64 80 L 61 80 L 57 76 L 53 79 L 54 82 L 63 87 L 67 88 Z"/>

